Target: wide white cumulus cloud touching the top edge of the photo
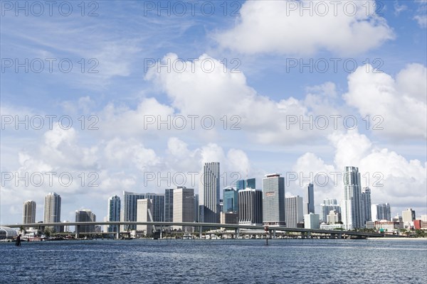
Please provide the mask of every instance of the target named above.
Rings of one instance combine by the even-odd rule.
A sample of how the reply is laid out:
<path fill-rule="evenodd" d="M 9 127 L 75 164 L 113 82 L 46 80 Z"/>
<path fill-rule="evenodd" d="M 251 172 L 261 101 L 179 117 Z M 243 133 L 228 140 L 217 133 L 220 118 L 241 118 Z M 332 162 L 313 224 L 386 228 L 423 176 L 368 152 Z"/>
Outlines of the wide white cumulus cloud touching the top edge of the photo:
<path fill-rule="evenodd" d="M 336 6 L 327 1 L 246 1 L 235 26 L 215 38 L 221 47 L 246 54 L 311 55 L 328 50 L 355 55 L 394 39 L 372 7 L 373 0 L 339 1 Z"/>

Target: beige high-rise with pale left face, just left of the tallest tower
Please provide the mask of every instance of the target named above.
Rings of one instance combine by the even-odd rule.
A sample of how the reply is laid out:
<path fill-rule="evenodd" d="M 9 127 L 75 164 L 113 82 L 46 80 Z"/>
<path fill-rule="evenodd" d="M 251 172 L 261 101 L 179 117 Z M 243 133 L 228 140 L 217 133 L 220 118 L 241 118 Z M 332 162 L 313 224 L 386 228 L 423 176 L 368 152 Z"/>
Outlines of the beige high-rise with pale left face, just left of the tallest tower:
<path fill-rule="evenodd" d="M 194 189 L 178 187 L 174 190 L 174 223 L 194 222 Z M 192 231 L 193 226 L 173 226 L 174 229 Z"/>

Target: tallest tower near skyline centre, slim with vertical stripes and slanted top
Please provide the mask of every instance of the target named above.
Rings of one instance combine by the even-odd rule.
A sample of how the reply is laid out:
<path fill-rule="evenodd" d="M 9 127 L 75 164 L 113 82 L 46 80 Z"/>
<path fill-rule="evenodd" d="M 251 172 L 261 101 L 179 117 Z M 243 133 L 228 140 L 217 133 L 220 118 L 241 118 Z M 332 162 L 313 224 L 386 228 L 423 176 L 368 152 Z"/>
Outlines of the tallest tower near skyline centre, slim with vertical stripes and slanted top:
<path fill-rule="evenodd" d="M 199 185 L 200 222 L 219 223 L 219 163 L 205 163 L 203 173 Z"/>

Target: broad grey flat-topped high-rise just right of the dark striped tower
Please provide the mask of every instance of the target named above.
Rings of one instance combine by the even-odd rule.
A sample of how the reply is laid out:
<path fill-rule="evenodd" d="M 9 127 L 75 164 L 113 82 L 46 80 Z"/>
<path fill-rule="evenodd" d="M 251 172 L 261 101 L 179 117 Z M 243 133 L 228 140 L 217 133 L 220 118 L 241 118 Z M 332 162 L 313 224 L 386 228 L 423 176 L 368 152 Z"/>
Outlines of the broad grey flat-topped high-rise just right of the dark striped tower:
<path fill-rule="evenodd" d="M 263 178 L 263 224 L 286 226 L 285 178 L 277 173 Z"/>

